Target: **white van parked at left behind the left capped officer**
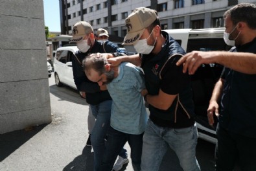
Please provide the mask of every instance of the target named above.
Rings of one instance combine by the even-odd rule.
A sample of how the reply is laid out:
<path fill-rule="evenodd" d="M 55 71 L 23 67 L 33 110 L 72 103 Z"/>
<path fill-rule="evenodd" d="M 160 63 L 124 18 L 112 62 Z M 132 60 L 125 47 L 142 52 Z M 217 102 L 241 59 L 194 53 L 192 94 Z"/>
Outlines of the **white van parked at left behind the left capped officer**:
<path fill-rule="evenodd" d="M 76 46 L 60 47 L 54 56 L 54 78 L 55 84 L 60 87 L 63 84 L 76 89 L 73 78 L 72 55 L 78 51 Z M 79 92 L 80 93 L 80 92 Z M 82 94 L 80 93 L 81 97 Z"/>

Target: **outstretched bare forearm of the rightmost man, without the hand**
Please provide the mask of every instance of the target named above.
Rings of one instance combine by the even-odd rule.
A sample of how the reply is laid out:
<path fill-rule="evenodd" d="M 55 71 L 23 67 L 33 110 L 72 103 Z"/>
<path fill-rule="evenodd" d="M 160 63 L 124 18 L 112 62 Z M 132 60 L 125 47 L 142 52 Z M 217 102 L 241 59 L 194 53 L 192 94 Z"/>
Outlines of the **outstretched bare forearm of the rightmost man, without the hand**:
<path fill-rule="evenodd" d="M 256 74 L 256 54 L 248 52 L 215 52 L 214 63 L 244 74 Z"/>

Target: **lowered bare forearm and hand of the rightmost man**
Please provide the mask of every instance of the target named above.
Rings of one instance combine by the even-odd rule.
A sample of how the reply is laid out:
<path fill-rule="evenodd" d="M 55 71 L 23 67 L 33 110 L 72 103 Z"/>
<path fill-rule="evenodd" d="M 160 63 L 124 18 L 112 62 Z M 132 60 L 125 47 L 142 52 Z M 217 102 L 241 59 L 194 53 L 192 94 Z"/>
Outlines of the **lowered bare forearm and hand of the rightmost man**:
<path fill-rule="evenodd" d="M 213 89 L 213 94 L 211 95 L 211 100 L 209 102 L 209 107 L 207 109 L 208 113 L 208 121 L 212 126 L 214 124 L 213 114 L 218 117 L 218 100 L 220 100 L 220 96 L 222 95 L 224 80 L 220 78 L 218 82 L 215 84 L 215 88 Z"/>

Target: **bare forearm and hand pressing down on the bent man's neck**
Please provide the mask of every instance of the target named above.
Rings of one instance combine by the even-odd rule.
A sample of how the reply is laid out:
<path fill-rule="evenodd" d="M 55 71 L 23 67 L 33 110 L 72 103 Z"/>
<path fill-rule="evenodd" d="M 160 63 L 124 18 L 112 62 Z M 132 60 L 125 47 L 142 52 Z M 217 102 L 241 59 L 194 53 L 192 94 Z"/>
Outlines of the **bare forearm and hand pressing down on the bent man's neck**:
<path fill-rule="evenodd" d="M 111 67 L 117 67 L 121 62 L 130 62 L 136 66 L 141 66 L 141 58 L 139 54 L 133 54 L 130 56 L 117 56 L 115 58 L 108 58 L 108 62 Z"/>

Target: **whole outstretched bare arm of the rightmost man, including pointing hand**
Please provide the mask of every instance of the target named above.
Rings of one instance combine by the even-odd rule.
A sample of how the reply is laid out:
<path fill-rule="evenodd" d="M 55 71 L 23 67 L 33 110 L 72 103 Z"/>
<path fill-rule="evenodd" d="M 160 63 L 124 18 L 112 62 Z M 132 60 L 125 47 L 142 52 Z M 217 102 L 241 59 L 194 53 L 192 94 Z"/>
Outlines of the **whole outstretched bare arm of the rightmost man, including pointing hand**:
<path fill-rule="evenodd" d="M 245 74 L 256 74 L 256 54 L 248 52 L 201 52 L 192 51 L 183 56 L 176 65 L 183 63 L 183 73 L 194 74 L 202 63 L 219 63 Z"/>

